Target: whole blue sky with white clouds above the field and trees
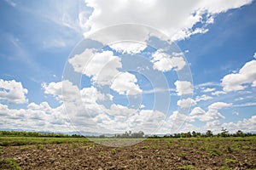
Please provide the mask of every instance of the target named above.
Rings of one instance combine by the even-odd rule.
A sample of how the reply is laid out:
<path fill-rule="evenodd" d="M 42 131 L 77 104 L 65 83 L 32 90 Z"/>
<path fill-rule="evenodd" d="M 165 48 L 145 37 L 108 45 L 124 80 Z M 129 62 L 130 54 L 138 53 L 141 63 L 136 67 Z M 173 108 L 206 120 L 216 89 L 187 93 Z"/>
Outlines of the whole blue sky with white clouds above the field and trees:
<path fill-rule="evenodd" d="M 253 0 L 2 0 L 0 129 L 256 132 Z"/>

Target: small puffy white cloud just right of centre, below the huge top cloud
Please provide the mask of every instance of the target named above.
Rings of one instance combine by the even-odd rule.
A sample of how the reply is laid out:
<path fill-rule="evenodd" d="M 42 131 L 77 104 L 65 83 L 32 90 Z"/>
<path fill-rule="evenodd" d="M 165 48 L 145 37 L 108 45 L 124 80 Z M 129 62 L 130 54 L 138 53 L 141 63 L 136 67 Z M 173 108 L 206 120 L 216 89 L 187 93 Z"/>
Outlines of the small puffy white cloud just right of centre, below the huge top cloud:
<path fill-rule="evenodd" d="M 169 55 L 164 53 L 163 49 L 158 49 L 152 56 L 151 62 L 154 64 L 154 70 L 171 71 L 175 69 L 180 71 L 186 65 L 183 53 L 172 53 L 172 55 Z"/>

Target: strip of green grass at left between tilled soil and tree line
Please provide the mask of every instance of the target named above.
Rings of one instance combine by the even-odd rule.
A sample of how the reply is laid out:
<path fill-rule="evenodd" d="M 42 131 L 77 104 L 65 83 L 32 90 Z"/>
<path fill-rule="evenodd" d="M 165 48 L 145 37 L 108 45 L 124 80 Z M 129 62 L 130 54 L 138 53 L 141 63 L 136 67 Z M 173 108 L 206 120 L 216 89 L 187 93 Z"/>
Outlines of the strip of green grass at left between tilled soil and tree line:
<path fill-rule="evenodd" d="M 52 137 L 0 137 L 0 146 L 15 146 L 27 144 L 63 144 L 63 143 L 86 143 L 85 138 L 52 138 Z"/>

